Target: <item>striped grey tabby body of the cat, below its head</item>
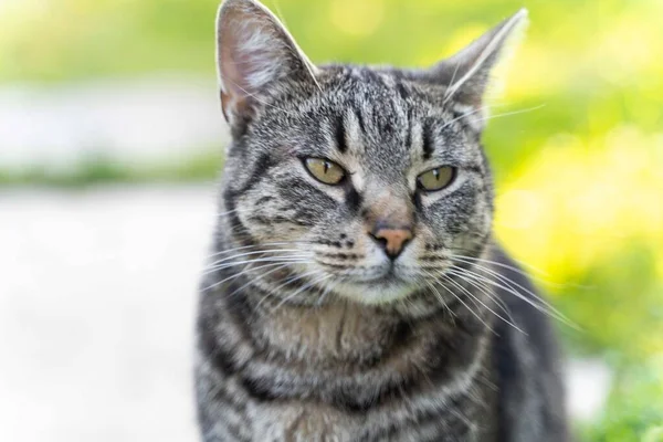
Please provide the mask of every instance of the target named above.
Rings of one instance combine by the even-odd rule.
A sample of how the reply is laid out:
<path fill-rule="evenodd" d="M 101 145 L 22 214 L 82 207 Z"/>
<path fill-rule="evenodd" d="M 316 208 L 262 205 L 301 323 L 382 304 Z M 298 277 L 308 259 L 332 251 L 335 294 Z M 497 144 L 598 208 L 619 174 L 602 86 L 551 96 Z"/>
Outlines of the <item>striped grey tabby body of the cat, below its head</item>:
<path fill-rule="evenodd" d="M 566 441 L 549 325 L 498 295 L 527 336 L 504 322 L 486 332 L 466 309 L 410 323 L 348 302 L 251 320 L 251 295 L 209 293 L 199 323 L 204 441 Z"/>

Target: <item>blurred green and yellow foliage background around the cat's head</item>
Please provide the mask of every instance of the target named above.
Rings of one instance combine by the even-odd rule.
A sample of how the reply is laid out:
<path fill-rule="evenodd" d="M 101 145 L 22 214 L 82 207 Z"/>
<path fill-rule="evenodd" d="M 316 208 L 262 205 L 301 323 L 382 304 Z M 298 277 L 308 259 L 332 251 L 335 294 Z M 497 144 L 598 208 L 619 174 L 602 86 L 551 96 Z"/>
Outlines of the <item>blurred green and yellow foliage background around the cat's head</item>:
<path fill-rule="evenodd" d="M 427 66 L 525 6 L 530 27 L 495 95 L 485 145 L 497 235 L 541 272 L 612 373 L 586 441 L 663 440 L 663 1 L 266 1 L 315 62 Z M 170 75 L 212 84 L 217 0 L 0 1 L 0 87 Z M 211 88 L 212 93 L 213 90 Z M 219 114 L 220 118 L 220 114 Z M 2 140 L 0 139 L 0 144 Z M 139 146 L 136 147 L 137 149 Z M 212 179 L 218 146 L 178 161 L 0 162 L 4 186 Z"/>

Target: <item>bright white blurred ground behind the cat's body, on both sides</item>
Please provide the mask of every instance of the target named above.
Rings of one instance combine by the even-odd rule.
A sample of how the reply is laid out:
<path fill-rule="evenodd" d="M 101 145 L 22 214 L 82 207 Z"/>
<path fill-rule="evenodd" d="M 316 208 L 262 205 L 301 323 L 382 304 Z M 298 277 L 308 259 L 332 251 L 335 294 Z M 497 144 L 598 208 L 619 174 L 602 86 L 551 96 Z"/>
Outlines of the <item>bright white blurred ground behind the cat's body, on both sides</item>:
<path fill-rule="evenodd" d="M 197 440 L 214 201 L 212 185 L 0 191 L 0 441 Z M 569 365 L 576 417 L 600 412 L 603 375 Z"/>

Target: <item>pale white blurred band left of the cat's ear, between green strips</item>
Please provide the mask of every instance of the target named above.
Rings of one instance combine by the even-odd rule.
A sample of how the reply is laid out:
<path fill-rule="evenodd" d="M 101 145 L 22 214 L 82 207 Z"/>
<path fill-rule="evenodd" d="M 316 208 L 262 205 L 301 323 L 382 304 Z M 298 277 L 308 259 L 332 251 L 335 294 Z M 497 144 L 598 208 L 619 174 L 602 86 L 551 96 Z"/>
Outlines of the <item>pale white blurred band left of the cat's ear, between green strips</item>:
<path fill-rule="evenodd" d="M 67 170 L 86 157 L 128 164 L 191 158 L 222 146 L 215 80 L 147 77 L 0 88 L 0 165 Z"/>

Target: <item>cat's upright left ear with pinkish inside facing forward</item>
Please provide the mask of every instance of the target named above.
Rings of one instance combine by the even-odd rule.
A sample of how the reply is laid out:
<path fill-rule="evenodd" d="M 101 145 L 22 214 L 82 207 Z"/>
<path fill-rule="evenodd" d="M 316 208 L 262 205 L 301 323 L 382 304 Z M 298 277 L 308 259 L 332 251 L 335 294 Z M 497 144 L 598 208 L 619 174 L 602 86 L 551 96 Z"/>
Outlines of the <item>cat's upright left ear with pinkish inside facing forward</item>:
<path fill-rule="evenodd" d="M 221 105 L 231 124 L 246 120 L 259 96 L 286 78 L 315 82 L 316 67 L 260 2 L 225 0 L 217 18 Z"/>

